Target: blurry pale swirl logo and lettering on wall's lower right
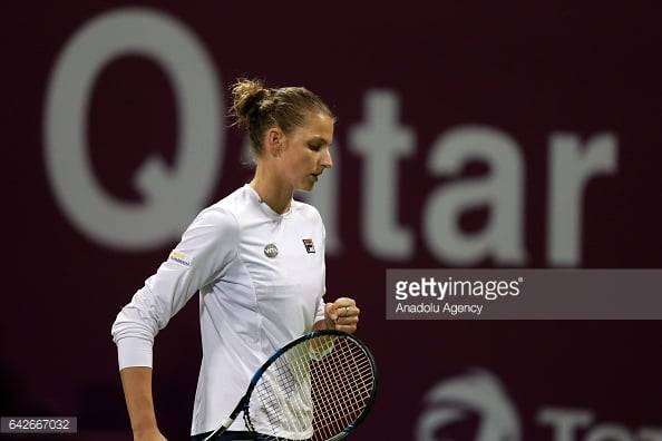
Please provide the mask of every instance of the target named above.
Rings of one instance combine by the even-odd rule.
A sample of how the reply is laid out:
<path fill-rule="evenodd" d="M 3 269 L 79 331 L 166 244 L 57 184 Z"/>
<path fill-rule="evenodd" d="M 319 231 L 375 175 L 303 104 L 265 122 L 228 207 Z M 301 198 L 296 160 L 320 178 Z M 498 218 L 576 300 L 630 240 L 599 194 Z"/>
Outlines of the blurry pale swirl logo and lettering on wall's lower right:
<path fill-rule="evenodd" d="M 428 391 L 416 421 L 415 440 L 520 441 L 527 439 L 523 433 L 527 423 L 545 433 L 541 441 L 662 440 L 662 425 L 602 421 L 593 409 L 541 405 L 535 421 L 523 421 L 515 398 L 503 382 L 480 369 L 442 380 Z"/>

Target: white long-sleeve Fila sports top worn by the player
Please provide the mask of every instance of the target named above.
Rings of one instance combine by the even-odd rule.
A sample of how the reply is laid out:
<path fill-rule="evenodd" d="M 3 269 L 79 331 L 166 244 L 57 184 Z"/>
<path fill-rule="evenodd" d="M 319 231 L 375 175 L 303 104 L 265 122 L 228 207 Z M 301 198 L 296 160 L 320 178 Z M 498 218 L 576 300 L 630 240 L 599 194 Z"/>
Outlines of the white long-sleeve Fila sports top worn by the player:
<path fill-rule="evenodd" d="M 154 337 L 199 292 L 203 360 L 192 434 L 212 431 L 254 371 L 324 318 L 324 291 L 319 212 L 292 200 L 276 214 L 246 184 L 198 214 L 119 312 L 111 329 L 119 369 L 152 366 Z M 231 430 L 245 430 L 243 420 Z"/>

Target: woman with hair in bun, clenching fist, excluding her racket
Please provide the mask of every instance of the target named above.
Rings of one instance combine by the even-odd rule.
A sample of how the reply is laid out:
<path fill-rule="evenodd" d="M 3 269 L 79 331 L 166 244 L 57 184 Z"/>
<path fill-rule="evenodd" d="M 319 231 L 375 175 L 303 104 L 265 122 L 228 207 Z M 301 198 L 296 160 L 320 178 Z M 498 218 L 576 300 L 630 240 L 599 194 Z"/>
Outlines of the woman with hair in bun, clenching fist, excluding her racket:
<path fill-rule="evenodd" d="M 303 87 L 232 86 L 231 115 L 246 129 L 255 161 L 250 184 L 203 209 L 113 324 L 134 440 L 165 440 L 154 412 L 154 337 L 199 293 L 203 360 L 192 440 L 204 439 L 235 406 L 251 375 L 278 347 L 314 330 L 353 333 L 349 297 L 324 303 L 324 226 L 293 199 L 332 167 L 335 118 Z M 253 439 L 237 419 L 216 440 Z"/>

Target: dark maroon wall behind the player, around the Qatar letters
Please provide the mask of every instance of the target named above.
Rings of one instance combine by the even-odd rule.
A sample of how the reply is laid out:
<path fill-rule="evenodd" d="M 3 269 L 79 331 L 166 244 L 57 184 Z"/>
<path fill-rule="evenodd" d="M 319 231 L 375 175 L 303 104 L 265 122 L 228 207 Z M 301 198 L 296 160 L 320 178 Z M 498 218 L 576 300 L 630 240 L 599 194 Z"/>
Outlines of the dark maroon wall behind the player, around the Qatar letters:
<path fill-rule="evenodd" d="M 661 440 L 659 322 L 388 322 L 384 272 L 660 267 L 662 7 L 646 1 L 237 3 L 0 7 L 6 158 L 0 414 L 77 415 L 80 433 L 72 438 L 130 439 L 110 324 L 181 229 L 133 248 L 90 235 L 64 208 L 64 200 L 75 204 L 82 196 L 58 195 L 47 165 L 48 155 L 60 155 L 56 139 L 67 134 L 49 134 L 45 127 L 49 85 L 76 32 L 116 8 L 139 6 L 167 14 L 195 36 L 212 61 L 222 112 L 230 104 L 230 84 L 247 75 L 273 86 L 304 85 L 339 116 L 337 167 L 329 174 L 335 180 L 324 178 L 338 186 L 337 197 L 328 199 L 333 209 L 327 218 L 341 246 L 328 257 L 328 287 L 332 296 L 359 302 L 360 336 L 381 371 L 374 413 L 352 439 Z M 68 87 L 76 89 L 75 84 Z M 87 164 L 109 198 L 140 206 L 145 196 L 134 178 L 144 160 L 156 154 L 173 169 L 178 165 L 184 110 L 173 80 L 154 59 L 126 52 L 100 68 L 90 90 L 81 126 Z M 387 121 L 387 128 L 398 122 L 413 136 L 408 154 L 386 163 L 397 173 L 388 197 L 395 224 L 409 232 L 409 254 L 380 254 L 362 227 L 377 209 L 364 167 L 379 159 L 359 153 L 351 128 L 367 124 L 366 97 L 377 90 L 398 99 L 395 122 Z M 61 104 L 51 110 L 62 115 L 70 108 Z M 222 114 L 216 129 L 224 125 Z M 489 165 L 480 160 L 468 161 L 452 176 L 429 166 L 440 137 L 467 127 L 500 134 L 490 141 L 507 137 L 508 151 L 519 158 L 522 182 L 515 196 L 505 197 L 522 205 L 496 205 L 515 209 L 522 222 L 518 258 L 504 257 L 500 245 L 466 262 L 444 257 L 435 227 L 426 229 L 437 192 L 490 176 Z M 582 194 L 578 252 L 569 262 L 551 257 L 548 233 L 552 183 L 566 179 L 566 173 L 568 179 L 574 176 L 564 166 L 552 166 L 559 134 L 588 147 L 607 134 L 615 146 L 613 171 L 593 176 Z M 221 154 L 210 163 L 214 178 L 204 204 L 251 173 L 240 165 L 241 134 L 222 131 L 216 141 Z M 56 160 L 76 171 L 70 157 Z M 191 204 L 177 188 L 191 185 L 168 187 L 176 204 L 160 217 L 164 223 L 179 216 L 176 225 L 186 225 L 187 213 L 177 207 Z M 496 206 L 467 209 L 457 220 L 463 237 L 484 233 Z M 556 209 L 569 208 L 562 204 Z M 564 224 L 561 232 L 555 239 L 563 242 L 572 227 Z M 384 243 L 398 247 L 389 237 Z M 195 303 L 156 343 L 157 412 L 173 440 L 185 439 L 189 427 L 201 355 Z"/>

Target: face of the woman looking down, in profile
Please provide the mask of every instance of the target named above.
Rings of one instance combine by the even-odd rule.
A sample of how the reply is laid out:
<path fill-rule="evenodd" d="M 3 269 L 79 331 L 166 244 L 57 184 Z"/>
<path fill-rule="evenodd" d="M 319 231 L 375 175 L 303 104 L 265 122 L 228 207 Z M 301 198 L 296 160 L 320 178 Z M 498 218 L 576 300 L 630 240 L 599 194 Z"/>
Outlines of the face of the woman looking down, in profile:
<path fill-rule="evenodd" d="M 301 127 L 284 137 L 281 171 L 294 188 L 310 192 L 324 169 L 333 166 L 333 119 L 323 112 L 309 114 Z"/>

